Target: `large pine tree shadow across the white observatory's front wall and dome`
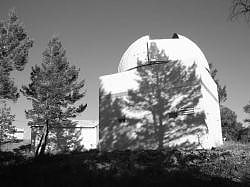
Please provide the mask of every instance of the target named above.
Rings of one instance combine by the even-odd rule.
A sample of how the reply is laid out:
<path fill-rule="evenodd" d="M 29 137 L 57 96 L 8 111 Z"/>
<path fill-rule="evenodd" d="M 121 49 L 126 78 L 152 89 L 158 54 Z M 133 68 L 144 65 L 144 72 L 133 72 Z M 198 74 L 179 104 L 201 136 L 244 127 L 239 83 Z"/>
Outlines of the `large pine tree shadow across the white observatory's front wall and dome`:
<path fill-rule="evenodd" d="M 147 64 L 138 61 L 138 89 L 120 98 L 100 89 L 101 148 L 202 148 L 208 129 L 204 113 L 194 112 L 201 98 L 197 65 L 171 61 L 155 43 L 149 51 Z"/>

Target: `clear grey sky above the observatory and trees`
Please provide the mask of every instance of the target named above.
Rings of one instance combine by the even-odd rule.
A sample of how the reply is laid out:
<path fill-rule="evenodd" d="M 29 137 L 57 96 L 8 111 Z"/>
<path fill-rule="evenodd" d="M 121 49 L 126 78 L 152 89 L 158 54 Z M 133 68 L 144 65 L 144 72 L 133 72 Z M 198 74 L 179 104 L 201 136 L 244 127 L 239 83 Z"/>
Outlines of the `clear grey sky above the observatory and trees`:
<path fill-rule="evenodd" d="M 15 8 L 29 36 L 34 39 L 29 63 L 15 72 L 18 88 L 27 85 L 31 67 L 41 63 L 42 52 L 58 36 L 71 64 L 81 69 L 88 108 L 77 119 L 98 120 L 98 78 L 117 72 L 122 54 L 136 39 L 171 38 L 179 33 L 194 41 L 208 62 L 218 69 L 227 87 L 225 106 L 239 121 L 250 101 L 250 24 L 228 19 L 231 0 L 0 0 L 0 19 Z M 10 104 L 14 125 L 30 136 L 24 110 L 30 101 L 20 97 Z"/>

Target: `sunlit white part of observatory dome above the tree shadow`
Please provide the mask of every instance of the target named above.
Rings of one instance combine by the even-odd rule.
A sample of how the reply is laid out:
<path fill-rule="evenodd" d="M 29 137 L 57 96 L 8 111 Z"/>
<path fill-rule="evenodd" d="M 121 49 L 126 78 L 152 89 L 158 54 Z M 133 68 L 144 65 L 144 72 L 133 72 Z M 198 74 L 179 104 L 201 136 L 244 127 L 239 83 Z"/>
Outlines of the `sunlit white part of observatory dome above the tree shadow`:
<path fill-rule="evenodd" d="M 155 43 L 160 51 L 163 50 L 170 60 L 191 60 L 209 71 L 208 62 L 201 49 L 190 39 L 175 33 L 170 39 L 150 39 L 149 36 L 143 36 L 136 40 L 123 54 L 118 72 L 136 68 L 138 60 L 147 64 L 151 43 Z"/>

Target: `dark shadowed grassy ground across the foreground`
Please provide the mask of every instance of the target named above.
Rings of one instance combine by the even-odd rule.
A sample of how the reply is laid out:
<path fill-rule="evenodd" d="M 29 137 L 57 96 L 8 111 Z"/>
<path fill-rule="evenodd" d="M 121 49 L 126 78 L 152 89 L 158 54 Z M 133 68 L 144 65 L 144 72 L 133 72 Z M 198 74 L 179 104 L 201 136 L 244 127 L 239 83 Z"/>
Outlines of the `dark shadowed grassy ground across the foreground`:
<path fill-rule="evenodd" d="M 89 151 L 34 160 L 1 153 L 1 186 L 248 186 L 249 155 L 230 150 Z"/>

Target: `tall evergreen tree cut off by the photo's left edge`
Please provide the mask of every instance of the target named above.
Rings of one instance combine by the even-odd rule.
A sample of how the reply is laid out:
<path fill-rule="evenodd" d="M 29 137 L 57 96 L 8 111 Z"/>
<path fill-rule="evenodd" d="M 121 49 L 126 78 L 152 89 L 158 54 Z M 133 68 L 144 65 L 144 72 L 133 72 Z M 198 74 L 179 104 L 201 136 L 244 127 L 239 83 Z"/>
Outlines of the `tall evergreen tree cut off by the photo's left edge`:
<path fill-rule="evenodd" d="M 0 99 L 16 100 L 19 96 L 12 71 L 22 71 L 28 62 L 33 41 L 29 38 L 14 10 L 0 21 Z"/>

